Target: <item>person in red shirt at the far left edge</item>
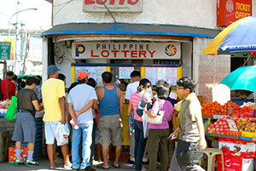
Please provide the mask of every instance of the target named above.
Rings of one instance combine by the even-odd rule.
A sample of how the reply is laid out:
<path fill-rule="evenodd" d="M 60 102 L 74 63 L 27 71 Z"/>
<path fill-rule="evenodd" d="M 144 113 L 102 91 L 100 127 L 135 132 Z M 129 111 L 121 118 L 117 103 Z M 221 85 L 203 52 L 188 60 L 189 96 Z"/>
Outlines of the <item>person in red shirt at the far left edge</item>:
<path fill-rule="evenodd" d="M 12 96 L 15 96 L 15 83 L 12 83 L 12 79 L 14 78 L 14 72 L 13 71 L 8 71 L 6 72 L 6 77 L 3 79 L 1 82 L 1 91 L 3 94 L 3 100 L 7 100 L 7 92 L 6 92 L 6 79 L 7 79 L 7 84 L 8 84 L 8 99 L 11 100 Z"/>

